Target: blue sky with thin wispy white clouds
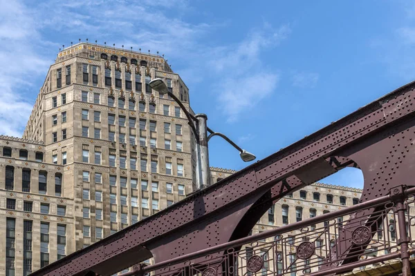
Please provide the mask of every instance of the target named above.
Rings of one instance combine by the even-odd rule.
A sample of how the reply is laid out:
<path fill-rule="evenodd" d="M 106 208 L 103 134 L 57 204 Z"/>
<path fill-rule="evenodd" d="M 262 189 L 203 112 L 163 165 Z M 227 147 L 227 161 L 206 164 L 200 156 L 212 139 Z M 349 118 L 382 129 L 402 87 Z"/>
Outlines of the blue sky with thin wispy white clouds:
<path fill-rule="evenodd" d="M 414 79 L 409 2 L 0 0 L 0 133 L 21 136 L 59 48 L 88 38 L 164 53 L 193 110 L 262 159 Z M 219 137 L 210 164 L 246 166 Z"/>

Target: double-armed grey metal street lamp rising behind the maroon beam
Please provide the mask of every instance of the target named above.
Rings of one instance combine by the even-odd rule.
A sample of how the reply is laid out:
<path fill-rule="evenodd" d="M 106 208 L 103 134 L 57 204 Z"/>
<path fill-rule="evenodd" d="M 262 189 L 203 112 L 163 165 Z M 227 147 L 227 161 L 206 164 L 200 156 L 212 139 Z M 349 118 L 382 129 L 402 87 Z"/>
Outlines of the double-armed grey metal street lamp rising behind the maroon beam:
<path fill-rule="evenodd" d="M 174 96 L 172 92 L 169 92 L 169 89 L 167 88 L 166 83 L 163 81 L 163 79 L 153 79 L 152 81 L 150 81 L 149 87 L 151 89 L 158 91 L 160 95 L 167 94 L 170 97 L 172 97 L 172 99 L 174 99 L 174 101 L 178 103 L 178 106 L 181 107 L 183 112 L 185 112 L 187 120 L 189 121 L 190 128 L 192 128 L 194 136 L 196 137 L 196 186 L 198 190 L 203 188 L 203 186 L 210 185 L 208 141 L 213 136 L 222 137 L 223 139 L 228 141 L 228 143 L 231 144 L 234 148 L 239 150 L 239 155 L 241 156 L 241 159 L 243 161 L 248 162 L 256 158 L 255 155 L 252 155 L 252 153 L 243 150 L 222 133 L 214 132 L 213 130 L 208 128 L 208 125 L 206 124 L 206 121 L 208 121 L 207 115 L 190 114 L 185 108 L 185 106 L 183 106 L 183 103 L 176 96 Z M 208 132 L 210 132 L 209 136 Z"/>

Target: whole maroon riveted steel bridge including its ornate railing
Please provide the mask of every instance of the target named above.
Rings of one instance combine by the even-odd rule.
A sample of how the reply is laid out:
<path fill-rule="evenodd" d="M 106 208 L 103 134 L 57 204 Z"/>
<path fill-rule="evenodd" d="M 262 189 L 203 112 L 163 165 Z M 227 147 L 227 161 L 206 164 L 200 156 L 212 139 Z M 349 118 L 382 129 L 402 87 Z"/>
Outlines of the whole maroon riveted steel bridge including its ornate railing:
<path fill-rule="evenodd" d="M 31 275 L 107 276 L 133 266 L 125 275 L 317 276 L 390 259 L 399 259 L 402 275 L 411 275 L 414 89 L 415 82 L 408 83 Z M 284 195 L 346 167 L 362 170 L 359 204 L 248 235 Z M 140 264 L 150 257 L 155 264 Z"/>

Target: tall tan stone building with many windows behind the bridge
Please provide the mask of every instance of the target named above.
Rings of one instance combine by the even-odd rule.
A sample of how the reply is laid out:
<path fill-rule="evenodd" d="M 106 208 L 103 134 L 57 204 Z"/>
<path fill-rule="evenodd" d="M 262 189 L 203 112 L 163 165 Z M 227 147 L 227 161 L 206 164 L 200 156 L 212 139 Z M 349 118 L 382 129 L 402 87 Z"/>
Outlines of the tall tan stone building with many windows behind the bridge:
<path fill-rule="evenodd" d="M 91 43 L 59 52 L 23 138 L 0 136 L 0 275 L 28 275 L 192 193 L 194 137 L 178 104 L 149 88 L 156 77 L 193 114 L 187 86 L 163 57 Z M 212 168 L 212 181 L 233 172 Z M 306 190 L 253 231 L 295 221 L 301 204 L 310 215 L 316 193 L 316 215 L 361 193 Z"/>

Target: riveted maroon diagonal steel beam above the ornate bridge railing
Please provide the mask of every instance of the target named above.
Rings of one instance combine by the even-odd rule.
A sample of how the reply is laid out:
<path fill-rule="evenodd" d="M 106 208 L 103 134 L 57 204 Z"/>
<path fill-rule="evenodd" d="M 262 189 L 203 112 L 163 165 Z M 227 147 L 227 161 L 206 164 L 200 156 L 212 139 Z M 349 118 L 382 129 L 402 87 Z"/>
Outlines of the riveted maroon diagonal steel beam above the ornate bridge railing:
<path fill-rule="evenodd" d="M 414 152 L 407 152 L 411 157 L 406 159 L 403 152 L 409 145 L 408 137 L 414 132 L 413 101 L 414 83 L 409 83 L 231 177 L 33 275 L 80 275 L 89 270 L 109 275 L 151 255 L 156 262 L 163 262 L 172 256 L 223 244 L 232 237 L 241 236 L 238 234 L 241 221 L 255 224 L 257 217 L 249 218 L 246 214 L 279 181 L 295 175 L 301 185 L 308 185 L 336 172 L 326 161 L 331 156 L 347 157 L 362 169 L 365 176 L 362 201 L 386 195 L 391 185 L 411 179 L 409 168 L 414 163 Z M 399 151 L 395 153 L 394 150 Z M 390 157 L 389 162 L 393 160 L 394 166 L 383 166 L 382 162 L 388 162 L 387 157 Z M 405 162 L 397 165 L 403 159 Z M 396 171 L 399 173 L 388 176 Z M 298 188 L 299 185 L 281 185 L 275 200 Z"/>

